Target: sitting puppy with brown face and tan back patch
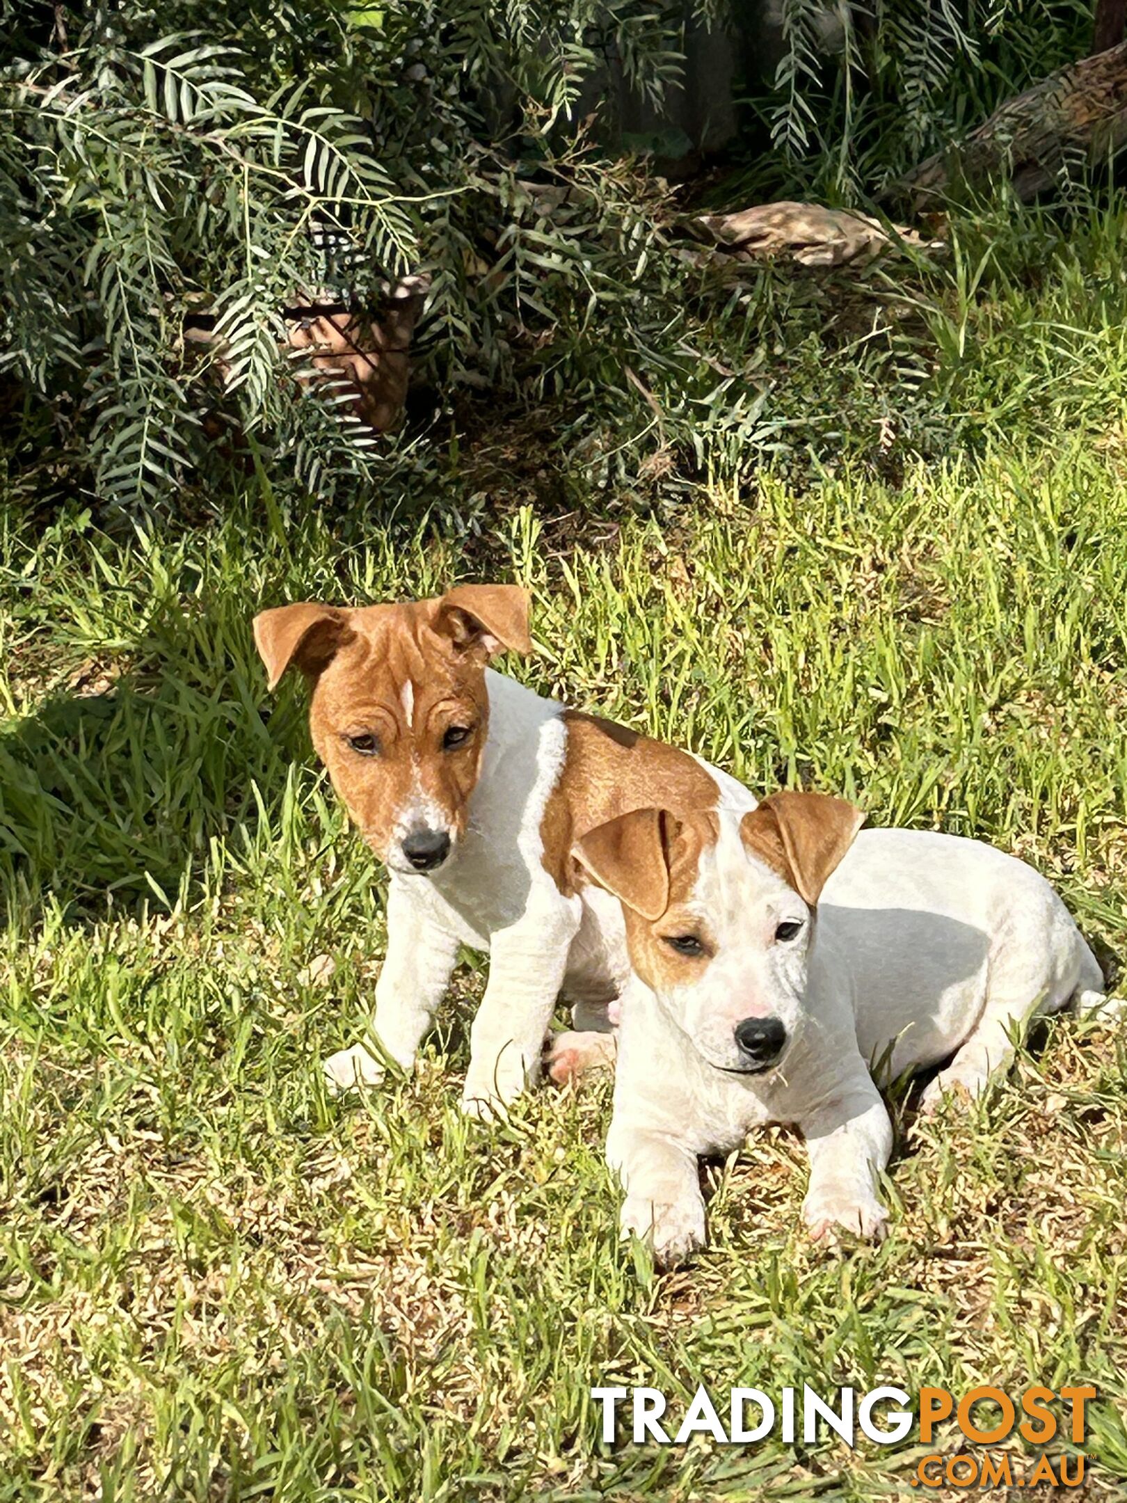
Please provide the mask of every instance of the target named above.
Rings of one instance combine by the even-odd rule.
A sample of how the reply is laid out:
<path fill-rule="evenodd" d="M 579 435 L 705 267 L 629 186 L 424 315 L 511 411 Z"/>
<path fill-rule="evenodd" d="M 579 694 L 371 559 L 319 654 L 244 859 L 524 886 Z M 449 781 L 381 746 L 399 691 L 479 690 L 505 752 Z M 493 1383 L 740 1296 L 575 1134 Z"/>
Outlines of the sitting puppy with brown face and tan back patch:
<path fill-rule="evenodd" d="M 391 873 L 373 1048 L 326 1063 L 335 1087 L 379 1081 L 376 1055 L 413 1063 L 460 942 L 490 953 L 467 1111 L 512 1102 L 535 1079 L 560 990 L 583 1030 L 565 1036 L 560 1069 L 598 1052 L 592 1030 L 610 1052 L 607 1009 L 630 974 L 622 909 L 573 848 L 654 803 L 754 809 L 688 753 L 494 673 L 499 652 L 530 651 L 527 606 L 514 586 L 460 585 L 412 604 L 302 603 L 255 618 L 270 687 L 292 663 L 311 681 L 314 745 Z"/>

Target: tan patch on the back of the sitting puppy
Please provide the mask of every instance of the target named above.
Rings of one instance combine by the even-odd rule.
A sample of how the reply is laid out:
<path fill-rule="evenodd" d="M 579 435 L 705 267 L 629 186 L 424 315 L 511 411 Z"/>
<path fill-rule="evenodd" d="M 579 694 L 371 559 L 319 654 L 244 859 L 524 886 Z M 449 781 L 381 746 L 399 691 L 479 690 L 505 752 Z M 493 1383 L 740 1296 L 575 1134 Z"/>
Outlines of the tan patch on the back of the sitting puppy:
<path fill-rule="evenodd" d="M 634 809 L 666 809 L 684 819 L 715 809 L 717 782 L 688 752 L 574 709 L 560 720 L 568 729 L 564 771 L 539 830 L 544 867 L 568 896 L 589 882 L 571 848 L 597 825 Z"/>

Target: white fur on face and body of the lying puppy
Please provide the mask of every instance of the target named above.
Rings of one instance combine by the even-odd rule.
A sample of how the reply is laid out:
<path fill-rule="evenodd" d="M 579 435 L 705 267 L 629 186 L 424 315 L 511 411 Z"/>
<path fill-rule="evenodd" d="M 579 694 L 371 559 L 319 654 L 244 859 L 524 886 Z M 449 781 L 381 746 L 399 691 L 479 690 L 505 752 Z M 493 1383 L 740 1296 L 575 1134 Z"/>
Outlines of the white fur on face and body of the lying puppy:
<path fill-rule="evenodd" d="M 663 1263 L 705 1240 L 697 1156 L 772 1121 L 805 1136 L 811 1234 L 881 1237 L 893 1129 L 873 1070 L 885 1079 L 954 1055 L 924 1106 L 956 1090 L 975 1097 L 1031 1015 L 1104 1006 L 1100 966 L 1052 887 L 978 842 L 864 831 L 813 914 L 721 819 L 694 900 L 715 957 L 664 995 L 631 980 L 607 1139 L 624 1231 L 651 1238 Z M 799 935 L 775 939 L 795 918 Z M 765 1015 L 787 1030 L 777 1066 L 726 1073 L 739 1063 L 735 1024 Z"/>

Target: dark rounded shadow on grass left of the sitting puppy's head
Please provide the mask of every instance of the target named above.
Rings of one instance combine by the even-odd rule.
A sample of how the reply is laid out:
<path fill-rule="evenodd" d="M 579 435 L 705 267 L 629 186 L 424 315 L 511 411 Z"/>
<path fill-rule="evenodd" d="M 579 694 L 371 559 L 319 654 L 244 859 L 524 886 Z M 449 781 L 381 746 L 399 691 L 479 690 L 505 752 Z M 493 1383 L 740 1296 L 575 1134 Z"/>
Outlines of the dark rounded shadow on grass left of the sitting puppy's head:
<path fill-rule="evenodd" d="M 287 755 L 261 715 L 215 684 L 123 676 L 47 699 L 0 729 L 0 879 L 9 903 L 50 896 L 72 917 L 174 903 L 209 845 L 281 798 Z"/>

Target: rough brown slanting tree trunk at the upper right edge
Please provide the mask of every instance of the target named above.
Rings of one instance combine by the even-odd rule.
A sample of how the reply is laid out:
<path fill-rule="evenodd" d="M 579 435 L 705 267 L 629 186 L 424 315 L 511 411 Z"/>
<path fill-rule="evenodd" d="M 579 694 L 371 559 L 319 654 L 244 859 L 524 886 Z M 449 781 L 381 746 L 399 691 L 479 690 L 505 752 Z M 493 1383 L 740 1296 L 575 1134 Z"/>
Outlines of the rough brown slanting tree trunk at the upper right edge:
<path fill-rule="evenodd" d="M 1052 186 L 1068 158 L 1098 161 L 1127 141 L 1127 42 L 1050 74 L 1007 99 L 959 144 L 929 156 L 890 191 L 920 213 L 959 182 L 1008 176 L 1028 201 Z"/>

